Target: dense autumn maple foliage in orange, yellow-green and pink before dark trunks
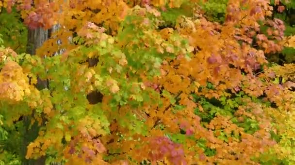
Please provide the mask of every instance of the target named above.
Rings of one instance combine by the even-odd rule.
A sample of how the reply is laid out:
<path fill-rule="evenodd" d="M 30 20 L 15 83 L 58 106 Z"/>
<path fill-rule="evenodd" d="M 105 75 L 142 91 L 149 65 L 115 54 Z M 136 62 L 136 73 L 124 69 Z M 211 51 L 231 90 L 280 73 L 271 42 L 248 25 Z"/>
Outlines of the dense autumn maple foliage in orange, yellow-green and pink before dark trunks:
<path fill-rule="evenodd" d="M 49 56 L 66 49 L 56 63 L 48 62 L 45 68 L 64 67 L 60 74 L 50 72 L 47 78 L 60 83 L 67 76 L 70 90 L 63 91 L 62 86 L 34 97 L 22 67 L 8 61 L 2 68 L 0 99 L 19 102 L 28 98 L 28 105 L 41 107 L 48 120 L 46 131 L 28 146 L 26 158 L 45 155 L 53 147 L 57 157 L 68 160 L 69 165 L 127 165 L 144 160 L 174 165 L 259 164 L 253 157 L 277 145 L 271 137 L 277 128 L 271 121 L 278 114 L 271 111 L 286 114 L 295 108 L 293 92 L 270 81 L 272 69 L 265 66 L 265 54 L 280 52 L 284 44 L 284 25 L 279 19 L 270 19 L 268 0 L 229 0 L 223 25 L 206 20 L 197 1 L 192 1 L 185 9 L 194 16 L 179 16 L 175 27 L 163 29 L 158 29 L 164 21 L 161 12 L 180 8 L 185 0 L 27 3 L 20 0 L 18 8 L 29 27 L 60 26 L 36 54 L 53 59 Z M 260 21 L 271 27 L 271 37 L 261 33 Z M 136 26 L 125 34 L 131 25 Z M 71 39 L 74 33 L 80 37 L 78 44 Z M 256 46 L 252 44 L 254 36 Z M 154 51 L 145 55 L 150 50 Z M 93 57 L 99 58 L 96 67 L 80 63 Z M 206 87 L 208 83 L 212 87 Z M 95 90 L 104 96 L 101 103 L 91 105 L 84 95 Z M 238 96 L 240 92 L 243 96 Z M 203 102 L 226 99 L 226 103 L 223 108 L 208 108 L 192 94 Z M 232 95 L 239 101 L 232 101 Z M 259 97 L 263 103 L 253 100 Z M 266 106 L 267 101 L 277 108 Z M 59 104 L 62 110 L 57 110 Z M 232 111 L 227 112 L 226 106 Z M 214 114 L 207 113 L 208 109 L 215 110 Z M 204 122 L 197 110 L 212 119 Z M 256 122 L 249 126 L 255 127 L 253 133 L 241 126 L 249 121 Z M 179 135 L 180 131 L 184 133 Z M 180 142 L 171 138 L 174 135 Z"/>

